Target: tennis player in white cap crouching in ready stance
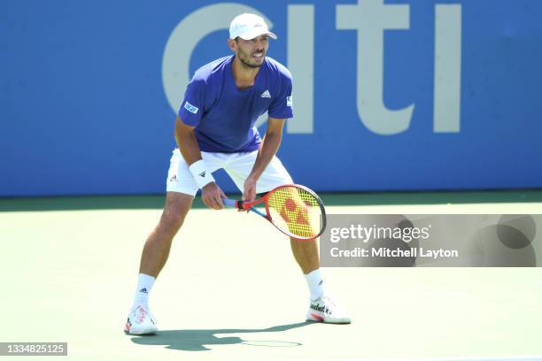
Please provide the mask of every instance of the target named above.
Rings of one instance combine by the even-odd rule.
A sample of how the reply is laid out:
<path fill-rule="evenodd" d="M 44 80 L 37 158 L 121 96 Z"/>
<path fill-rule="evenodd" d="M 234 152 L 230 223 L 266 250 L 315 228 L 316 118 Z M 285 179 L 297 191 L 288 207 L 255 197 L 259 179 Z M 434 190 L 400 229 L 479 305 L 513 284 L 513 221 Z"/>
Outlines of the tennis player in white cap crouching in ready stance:
<path fill-rule="evenodd" d="M 149 294 L 197 190 L 201 188 L 209 208 L 223 208 L 226 196 L 213 179 L 214 171 L 223 168 L 243 192 L 244 201 L 293 183 L 275 157 L 284 120 L 293 116 L 291 74 L 267 57 L 269 39 L 276 38 L 259 16 L 237 16 L 228 39 L 234 54 L 199 68 L 186 89 L 175 119 L 178 149 L 171 157 L 166 205 L 143 247 L 136 296 L 124 328 L 128 334 L 153 334 L 158 329 L 149 311 Z M 267 132 L 262 139 L 254 123 L 266 111 Z M 291 239 L 290 245 L 310 291 L 306 319 L 350 323 L 324 289 L 316 240 Z"/>

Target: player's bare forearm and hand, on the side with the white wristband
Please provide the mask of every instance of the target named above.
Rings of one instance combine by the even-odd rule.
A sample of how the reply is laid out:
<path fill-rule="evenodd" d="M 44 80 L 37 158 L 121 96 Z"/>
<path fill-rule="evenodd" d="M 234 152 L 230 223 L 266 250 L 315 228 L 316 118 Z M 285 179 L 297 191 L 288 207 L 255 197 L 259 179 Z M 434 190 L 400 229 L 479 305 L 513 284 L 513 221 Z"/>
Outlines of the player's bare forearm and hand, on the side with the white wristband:
<path fill-rule="evenodd" d="M 197 144 L 196 135 L 194 134 L 194 129 L 196 127 L 191 127 L 182 123 L 180 117 L 175 119 L 175 141 L 177 142 L 177 147 L 181 151 L 182 157 L 186 160 L 186 163 L 192 165 L 198 160 L 201 160 L 201 150 Z M 215 183 L 210 182 L 201 189 L 201 198 L 203 203 L 214 210 L 221 210 L 224 208 L 222 204 L 222 198 L 226 198 L 226 195 L 222 189 Z"/>

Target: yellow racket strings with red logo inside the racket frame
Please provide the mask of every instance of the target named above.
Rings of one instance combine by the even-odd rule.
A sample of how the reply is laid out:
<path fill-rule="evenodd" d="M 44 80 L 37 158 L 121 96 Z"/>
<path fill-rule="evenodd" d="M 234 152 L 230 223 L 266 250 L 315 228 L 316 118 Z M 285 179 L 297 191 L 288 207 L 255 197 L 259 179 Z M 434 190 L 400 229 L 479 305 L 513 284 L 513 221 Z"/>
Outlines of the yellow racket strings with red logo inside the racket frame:
<path fill-rule="evenodd" d="M 267 204 L 276 227 L 302 238 L 313 238 L 320 233 L 320 203 L 305 189 L 278 188 L 269 196 Z"/>

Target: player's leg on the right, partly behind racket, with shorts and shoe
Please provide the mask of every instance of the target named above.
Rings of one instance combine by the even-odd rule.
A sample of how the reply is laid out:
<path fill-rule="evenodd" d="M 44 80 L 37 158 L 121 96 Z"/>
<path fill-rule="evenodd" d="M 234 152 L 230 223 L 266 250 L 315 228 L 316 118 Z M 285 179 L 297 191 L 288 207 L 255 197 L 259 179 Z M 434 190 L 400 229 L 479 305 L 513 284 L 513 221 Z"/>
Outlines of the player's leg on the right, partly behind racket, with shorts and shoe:
<path fill-rule="evenodd" d="M 254 151 L 232 156 L 228 161 L 228 166 L 225 167 L 226 172 L 241 192 L 243 192 L 244 180 L 252 171 L 257 153 Z M 290 173 L 282 162 L 278 157 L 273 157 L 256 183 L 256 192 L 266 193 L 273 188 L 292 183 Z M 329 323 L 350 323 L 345 312 L 341 311 L 337 303 L 333 302 L 329 294 L 325 292 L 320 270 L 318 242 L 290 238 L 290 247 L 293 257 L 305 276 L 310 292 L 311 303 L 306 318 Z"/>

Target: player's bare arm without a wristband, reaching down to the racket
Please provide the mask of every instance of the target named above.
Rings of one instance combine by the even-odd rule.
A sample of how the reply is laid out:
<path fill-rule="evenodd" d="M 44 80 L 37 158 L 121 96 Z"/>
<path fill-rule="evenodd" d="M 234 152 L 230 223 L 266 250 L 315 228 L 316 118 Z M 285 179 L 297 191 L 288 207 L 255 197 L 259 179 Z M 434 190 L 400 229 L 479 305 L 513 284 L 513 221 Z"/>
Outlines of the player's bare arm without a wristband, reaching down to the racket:
<path fill-rule="evenodd" d="M 281 141 L 283 140 L 283 127 L 284 119 L 269 117 L 267 132 L 262 142 L 259 144 L 258 156 L 252 166 L 252 172 L 244 181 L 244 201 L 252 202 L 254 198 L 256 198 L 256 182 L 281 145 Z"/>

